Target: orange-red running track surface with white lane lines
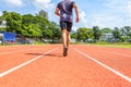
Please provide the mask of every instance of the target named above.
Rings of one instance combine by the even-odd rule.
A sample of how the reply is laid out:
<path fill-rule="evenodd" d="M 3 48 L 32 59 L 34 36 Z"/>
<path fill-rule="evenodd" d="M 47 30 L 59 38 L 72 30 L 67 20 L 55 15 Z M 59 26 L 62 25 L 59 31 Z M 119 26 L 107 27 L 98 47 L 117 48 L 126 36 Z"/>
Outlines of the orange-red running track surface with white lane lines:
<path fill-rule="evenodd" d="M 131 49 L 72 45 L 0 47 L 0 87 L 131 87 Z"/>

